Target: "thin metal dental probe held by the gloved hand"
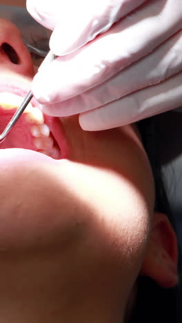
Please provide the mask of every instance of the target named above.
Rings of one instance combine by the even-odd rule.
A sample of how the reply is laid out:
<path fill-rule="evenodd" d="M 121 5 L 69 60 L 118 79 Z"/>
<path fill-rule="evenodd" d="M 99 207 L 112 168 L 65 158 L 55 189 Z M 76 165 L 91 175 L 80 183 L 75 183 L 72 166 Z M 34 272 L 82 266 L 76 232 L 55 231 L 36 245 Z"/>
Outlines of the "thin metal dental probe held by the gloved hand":
<path fill-rule="evenodd" d="M 48 55 L 45 57 L 45 59 L 43 59 L 43 62 L 41 63 L 39 68 L 42 68 L 45 64 L 50 63 L 51 61 L 54 61 L 54 59 L 56 59 L 56 58 L 57 58 L 57 55 L 54 55 L 51 51 L 48 52 Z M 23 100 L 21 106 L 19 106 L 17 111 L 14 113 L 12 119 L 10 119 L 10 122 L 8 123 L 8 125 L 3 130 L 3 132 L 1 133 L 1 135 L 0 135 L 0 144 L 1 144 L 1 142 L 3 142 L 6 139 L 6 136 L 8 135 L 8 133 L 10 133 L 10 130 L 12 130 L 14 125 L 17 123 L 17 121 L 21 117 L 23 111 L 26 109 L 29 102 L 31 101 L 32 97 L 33 97 L 33 94 L 32 94 L 32 91 L 30 90 L 30 92 L 28 93 L 26 98 Z"/>

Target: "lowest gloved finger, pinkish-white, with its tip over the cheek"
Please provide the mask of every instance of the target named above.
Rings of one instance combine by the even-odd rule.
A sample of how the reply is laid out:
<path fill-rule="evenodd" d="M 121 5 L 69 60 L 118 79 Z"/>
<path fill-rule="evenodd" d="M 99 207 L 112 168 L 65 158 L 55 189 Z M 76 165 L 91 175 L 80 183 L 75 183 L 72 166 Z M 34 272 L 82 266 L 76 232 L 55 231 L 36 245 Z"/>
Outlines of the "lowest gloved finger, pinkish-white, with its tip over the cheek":
<path fill-rule="evenodd" d="M 79 115 L 79 124 L 83 130 L 106 130 L 161 112 L 179 108 L 182 102 L 182 72 L 156 84 L 106 104 L 101 108 L 83 112 Z"/>

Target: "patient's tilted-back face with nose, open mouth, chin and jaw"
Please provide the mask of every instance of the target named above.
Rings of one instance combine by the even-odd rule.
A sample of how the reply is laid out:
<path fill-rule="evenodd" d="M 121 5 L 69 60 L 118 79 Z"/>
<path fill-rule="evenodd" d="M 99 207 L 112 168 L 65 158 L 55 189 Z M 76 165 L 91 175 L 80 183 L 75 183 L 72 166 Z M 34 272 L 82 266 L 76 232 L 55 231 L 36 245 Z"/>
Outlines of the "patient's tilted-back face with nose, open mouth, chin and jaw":
<path fill-rule="evenodd" d="M 16 28 L 0 19 L 0 30 L 2 131 L 30 90 L 33 66 Z M 137 130 L 85 132 L 77 116 L 55 119 L 38 107 L 32 100 L 1 145 L 0 313 L 12 313 L 7 322 L 25 322 L 26 313 L 26 322 L 59 322 L 89 295 L 91 314 L 108 315 L 120 301 L 122 313 L 154 208 Z"/>

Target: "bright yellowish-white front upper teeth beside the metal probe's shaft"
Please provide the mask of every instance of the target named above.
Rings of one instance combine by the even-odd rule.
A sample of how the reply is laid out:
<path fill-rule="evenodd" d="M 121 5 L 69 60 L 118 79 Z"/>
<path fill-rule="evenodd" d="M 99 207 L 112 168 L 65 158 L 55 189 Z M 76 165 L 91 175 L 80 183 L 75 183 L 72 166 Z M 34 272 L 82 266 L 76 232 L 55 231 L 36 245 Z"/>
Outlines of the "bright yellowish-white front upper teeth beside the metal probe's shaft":
<path fill-rule="evenodd" d="M 0 92 L 0 106 L 5 110 L 11 110 L 14 107 L 19 107 L 23 102 L 23 97 L 10 92 Z M 28 104 L 24 112 L 29 112 L 32 109 L 32 104 Z"/>

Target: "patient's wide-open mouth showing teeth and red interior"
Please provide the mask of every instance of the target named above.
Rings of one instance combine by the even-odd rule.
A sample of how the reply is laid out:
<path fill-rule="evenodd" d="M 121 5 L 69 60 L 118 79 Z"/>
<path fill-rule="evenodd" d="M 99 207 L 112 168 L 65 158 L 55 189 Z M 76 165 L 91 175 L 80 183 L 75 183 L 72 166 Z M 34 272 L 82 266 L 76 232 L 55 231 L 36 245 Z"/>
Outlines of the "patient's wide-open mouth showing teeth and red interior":
<path fill-rule="evenodd" d="M 21 94 L 20 94 L 21 92 Z M 0 92 L 0 133 L 19 108 L 26 96 L 19 88 L 2 86 Z M 36 100 L 32 100 L 24 110 L 1 149 L 23 148 L 34 150 L 53 159 L 63 159 L 68 155 L 68 144 L 61 121 L 44 115 Z"/>

